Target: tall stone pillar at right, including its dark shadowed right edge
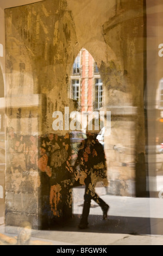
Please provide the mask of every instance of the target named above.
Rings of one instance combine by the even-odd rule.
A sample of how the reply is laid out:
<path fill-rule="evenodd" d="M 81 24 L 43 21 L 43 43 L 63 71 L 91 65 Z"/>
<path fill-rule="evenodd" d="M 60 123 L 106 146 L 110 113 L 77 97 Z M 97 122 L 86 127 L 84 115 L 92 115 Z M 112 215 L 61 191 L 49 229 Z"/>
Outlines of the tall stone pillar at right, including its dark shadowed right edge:
<path fill-rule="evenodd" d="M 107 95 L 104 108 L 114 113 L 114 118 L 111 119 L 112 136 L 110 136 L 112 153 L 114 147 L 116 149 L 114 154 L 119 154 L 119 157 L 122 157 L 120 151 L 124 149 L 130 151 L 131 157 L 123 153 L 123 156 L 126 155 L 126 159 L 122 157 L 124 163 L 120 159 L 113 160 L 114 163 L 112 164 L 115 165 L 115 162 L 118 162 L 120 165 L 118 164 L 115 169 L 110 163 L 109 173 L 117 194 L 121 194 L 124 190 L 128 191 L 127 193 L 130 195 L 147 196 L 143 103 L 144 51 L 146 51 L 144 48 L 144 31 L 146 29 L 143 14 L 144 6 L 143 1 L 137 1 L 134 5 L 131 1 L 118 2 L 115 15 L 103 25 L 105 42 L 115 52 L 116 59 L 102 63 L 100 71 Z M 109 158 L 112 160 L 112 154 L 111 156 L 108 155 Z M 123 169 L 122 173 L 125 177 L 121 176 L 121 169 Z M 127 180 L 130 180 L 130 185 Z M 118 183 L 119 186 L 115 183 Z M 132 191 L 130 190 L 131 187 L 133 187 Z"/>

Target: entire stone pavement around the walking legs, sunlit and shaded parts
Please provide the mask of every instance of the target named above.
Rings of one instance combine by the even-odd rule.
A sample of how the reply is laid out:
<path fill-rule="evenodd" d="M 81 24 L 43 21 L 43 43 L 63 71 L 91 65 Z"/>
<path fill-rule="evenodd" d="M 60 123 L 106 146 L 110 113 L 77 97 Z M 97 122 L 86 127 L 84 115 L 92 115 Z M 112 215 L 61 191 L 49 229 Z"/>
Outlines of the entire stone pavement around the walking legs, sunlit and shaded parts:
<path fill-rule="evenodd" d="M 78 229 L 83 209 L 84 188 L 73 190 L 73 218 L 51 230 L 32 230 L 32 245 L 163 245 L 163 199 L 117 197 L 97 193 L 110 205 L 109 217 L 102 220 L 101 208 L 91 203 L 89 228 Z M 8 236 L 8 239 L 1 237 Z M 12 237 L 13 240 L 10 240 Z M 16 228 L 0 226 L 0 244 L 17 242 Z"/>

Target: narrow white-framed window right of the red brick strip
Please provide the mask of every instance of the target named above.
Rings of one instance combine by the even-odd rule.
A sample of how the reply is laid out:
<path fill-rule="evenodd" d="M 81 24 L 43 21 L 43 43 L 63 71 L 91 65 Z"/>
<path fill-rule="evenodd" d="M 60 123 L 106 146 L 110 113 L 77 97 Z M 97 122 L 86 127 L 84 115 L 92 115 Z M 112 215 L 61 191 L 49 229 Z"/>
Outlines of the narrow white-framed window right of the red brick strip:
<path fill-rule="evenodd" d="M 95 109 L 103 105 L 103 83 L 101 78 L 95 78 Z"/>

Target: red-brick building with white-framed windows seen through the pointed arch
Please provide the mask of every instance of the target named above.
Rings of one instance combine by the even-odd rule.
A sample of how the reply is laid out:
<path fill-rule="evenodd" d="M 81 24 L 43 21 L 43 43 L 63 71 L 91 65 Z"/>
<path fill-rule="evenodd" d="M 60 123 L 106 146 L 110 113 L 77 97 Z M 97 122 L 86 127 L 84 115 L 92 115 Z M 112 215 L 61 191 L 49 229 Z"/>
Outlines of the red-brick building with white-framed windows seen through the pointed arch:
<path fill-rule="evenodd" d="M 78 102 L 78 109 L 92 112 L 103 105 L 103 83 L 97 64 L 85 49 L 79 52 L 74 60 L 70 95 Z"/>

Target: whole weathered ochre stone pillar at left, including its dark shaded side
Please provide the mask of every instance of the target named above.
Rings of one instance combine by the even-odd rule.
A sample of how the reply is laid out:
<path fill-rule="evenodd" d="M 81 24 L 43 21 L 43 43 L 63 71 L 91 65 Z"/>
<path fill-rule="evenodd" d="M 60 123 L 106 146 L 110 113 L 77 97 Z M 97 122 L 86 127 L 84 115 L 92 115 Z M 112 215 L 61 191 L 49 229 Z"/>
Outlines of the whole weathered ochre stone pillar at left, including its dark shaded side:
<path fill-rule="evenodd" d="M 69 131 L 54 131 L 52 114 L 73 107 L 66 95 L 76 36 L 62 0 L 6 9 L 5 22 L 5 224 L 38 229 L 72 216 Z"/>

